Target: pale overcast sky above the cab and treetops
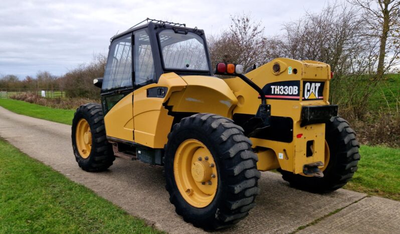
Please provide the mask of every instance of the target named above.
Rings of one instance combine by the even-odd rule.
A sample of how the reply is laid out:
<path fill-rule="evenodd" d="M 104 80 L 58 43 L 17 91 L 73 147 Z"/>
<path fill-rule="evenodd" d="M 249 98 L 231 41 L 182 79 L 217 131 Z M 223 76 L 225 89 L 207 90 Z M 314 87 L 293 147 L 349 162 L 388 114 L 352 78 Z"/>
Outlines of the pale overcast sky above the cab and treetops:
<path fill-rule="evenodd" d="M 23 79 L 39 70 L 62 75 L 95 53 L 107 53 L 111 36 L 147 17 L 211 35 L 229 27 L 230 14 L 251 13 L 273 36 L 283 23 L 321 11 L 327 1 L 0 0 L 0 75 Z"/>

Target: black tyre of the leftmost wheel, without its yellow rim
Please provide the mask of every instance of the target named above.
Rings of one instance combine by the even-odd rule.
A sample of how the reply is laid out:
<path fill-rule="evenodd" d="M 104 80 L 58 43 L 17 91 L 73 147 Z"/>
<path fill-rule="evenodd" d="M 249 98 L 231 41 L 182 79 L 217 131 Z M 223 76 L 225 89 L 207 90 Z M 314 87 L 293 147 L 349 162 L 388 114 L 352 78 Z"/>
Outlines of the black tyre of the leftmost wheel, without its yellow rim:
<path fill-rule="evenodd" d="M 92 147 L 88 158 L 82 158 L 76 143 L 76 128 L 81 119 L 85 119 L 92 134 Z M 88 103 L 76 109 L 72 120 L 72 147 L 75 159 L 79 167 L 85 171 L 104 171 L 109 168 L 115 160 L 112 145 L 107 142 L 104 127 L 103 110 L 100 104 Z"/>

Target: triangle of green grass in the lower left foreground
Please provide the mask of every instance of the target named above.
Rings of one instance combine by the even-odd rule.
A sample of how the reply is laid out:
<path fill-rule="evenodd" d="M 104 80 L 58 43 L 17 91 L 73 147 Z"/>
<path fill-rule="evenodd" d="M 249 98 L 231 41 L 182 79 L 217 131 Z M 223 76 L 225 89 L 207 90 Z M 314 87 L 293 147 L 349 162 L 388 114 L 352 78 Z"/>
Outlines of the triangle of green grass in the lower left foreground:
<path fill-rule="evenodd" d="M 0 233 L 160 233 L 0 139 Z"/>

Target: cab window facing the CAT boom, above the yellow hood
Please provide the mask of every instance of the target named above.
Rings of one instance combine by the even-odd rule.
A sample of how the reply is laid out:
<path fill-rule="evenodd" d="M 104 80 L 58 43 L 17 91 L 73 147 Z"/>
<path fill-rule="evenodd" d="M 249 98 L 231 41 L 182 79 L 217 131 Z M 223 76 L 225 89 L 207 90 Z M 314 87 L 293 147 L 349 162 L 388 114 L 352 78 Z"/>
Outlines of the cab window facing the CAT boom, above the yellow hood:
<path fill-rule="evenodd" d="M 165 69 L 209 71 L 206 48 L 202 37 L 195 33 L 175 33 L 171 29 L 158 35 Z"/>

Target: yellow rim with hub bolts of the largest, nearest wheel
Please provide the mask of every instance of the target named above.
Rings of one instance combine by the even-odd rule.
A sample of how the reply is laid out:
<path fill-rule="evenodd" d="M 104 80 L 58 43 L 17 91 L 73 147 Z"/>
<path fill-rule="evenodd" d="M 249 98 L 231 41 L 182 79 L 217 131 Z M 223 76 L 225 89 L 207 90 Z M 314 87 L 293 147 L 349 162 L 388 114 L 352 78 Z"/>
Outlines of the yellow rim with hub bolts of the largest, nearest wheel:
<path fill-rule="evenodd" d="M 203 208 L 213 201 L 218 187 L 217 165 L 200 141 L 189 139 L 179 145 L 173 175 L 180 194 L 190 205 Z"/>

